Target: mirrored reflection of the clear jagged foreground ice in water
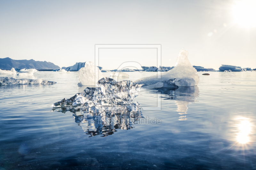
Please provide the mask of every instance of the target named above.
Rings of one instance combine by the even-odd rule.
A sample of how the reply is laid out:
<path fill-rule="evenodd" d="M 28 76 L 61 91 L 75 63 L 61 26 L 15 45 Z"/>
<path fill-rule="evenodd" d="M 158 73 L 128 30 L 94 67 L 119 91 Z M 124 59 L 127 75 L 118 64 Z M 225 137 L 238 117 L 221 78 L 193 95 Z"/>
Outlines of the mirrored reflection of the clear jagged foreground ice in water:
<path fill-rule="evenodd" d="M 86 134 L 106 137 L 116 132 L 116 129 L 132 129 L 132 125 L 143 118 L 138 103 L 133 109 L 126 106 L 108 107 L 104 109 L 88 108 L 81 115 L 73 114 L 74 120 Z"/>

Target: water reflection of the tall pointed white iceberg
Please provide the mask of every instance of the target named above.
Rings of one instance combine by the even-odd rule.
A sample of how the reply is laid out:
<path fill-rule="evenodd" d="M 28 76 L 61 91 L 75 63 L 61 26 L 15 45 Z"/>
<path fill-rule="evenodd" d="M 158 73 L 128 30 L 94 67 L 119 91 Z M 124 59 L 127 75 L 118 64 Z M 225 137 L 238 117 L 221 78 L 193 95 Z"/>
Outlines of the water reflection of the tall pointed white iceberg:
<path fill-rule="evenodd" d="M 196 102 L 196 97 L 199 96 L 198 86 L 193 87 L 179 87 L 178 89 L 174 88 L 158 88 L 154 91 L 161 92 L 164 100 L 175 100 L 177 105 L 177 112 L 180 114 L 179 120 L 185 121 L 188 118 L 186 117 L 188 111 L 188 105 L 190 103 Z M 164 95 L 163 95 L 164 94 Z"/>

